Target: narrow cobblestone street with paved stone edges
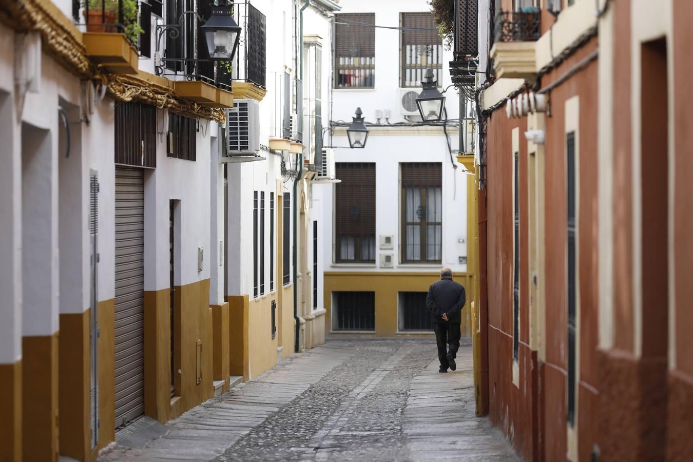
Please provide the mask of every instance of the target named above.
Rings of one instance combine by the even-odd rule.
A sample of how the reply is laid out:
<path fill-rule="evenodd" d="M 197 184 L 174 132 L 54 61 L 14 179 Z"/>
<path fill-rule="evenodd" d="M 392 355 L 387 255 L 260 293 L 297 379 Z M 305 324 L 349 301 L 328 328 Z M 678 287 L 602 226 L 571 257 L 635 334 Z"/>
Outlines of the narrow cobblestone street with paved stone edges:
<path fill-rule="evenodd" d="M 517 460 L 475 417 L 470 346 L 457 364 L 438 373 L 432 339 L 331 339 L 101 459 Z"/>

